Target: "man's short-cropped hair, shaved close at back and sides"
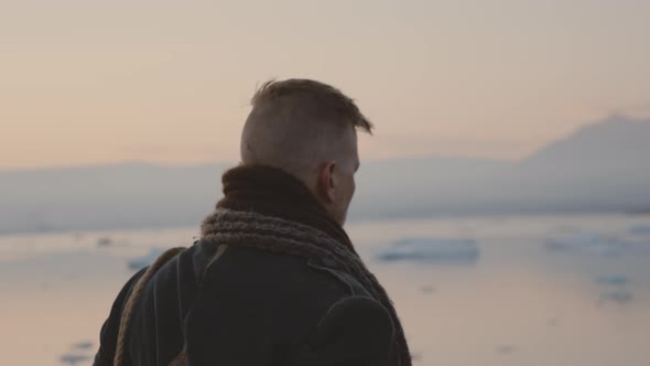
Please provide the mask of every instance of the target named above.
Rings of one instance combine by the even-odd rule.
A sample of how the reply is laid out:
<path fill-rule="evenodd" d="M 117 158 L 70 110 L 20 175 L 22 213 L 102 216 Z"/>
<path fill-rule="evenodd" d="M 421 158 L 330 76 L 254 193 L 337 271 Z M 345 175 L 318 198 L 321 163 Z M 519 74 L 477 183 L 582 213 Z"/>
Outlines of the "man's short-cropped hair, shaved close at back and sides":
<path fill-rule="evenodd" d="M 317 175 L 324 162 L 358 160 L 356 129 L 372 130 L 353 99 L 311 79 L 270 80 L 251 105 L 242 163 L 279 168 L 303 181 Z"/>

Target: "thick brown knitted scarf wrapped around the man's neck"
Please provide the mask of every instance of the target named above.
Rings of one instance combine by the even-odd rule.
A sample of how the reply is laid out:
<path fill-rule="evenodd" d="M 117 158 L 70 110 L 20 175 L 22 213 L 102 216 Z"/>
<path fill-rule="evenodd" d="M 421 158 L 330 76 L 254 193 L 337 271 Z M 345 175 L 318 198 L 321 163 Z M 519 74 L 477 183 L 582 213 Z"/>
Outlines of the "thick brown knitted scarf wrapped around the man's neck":
<path fill-rule="evenodd" d="M 307 259 L 329 258 L 388 309 L 396 325 L 396 365 L 411 366 L 411 355 L 394 306 L 366 268 L 353 243 L 296 177 L 261 165 L 240 165 L 223 176 L 225 197 L 202 224 L 206 241 L 257 248 Z"/>

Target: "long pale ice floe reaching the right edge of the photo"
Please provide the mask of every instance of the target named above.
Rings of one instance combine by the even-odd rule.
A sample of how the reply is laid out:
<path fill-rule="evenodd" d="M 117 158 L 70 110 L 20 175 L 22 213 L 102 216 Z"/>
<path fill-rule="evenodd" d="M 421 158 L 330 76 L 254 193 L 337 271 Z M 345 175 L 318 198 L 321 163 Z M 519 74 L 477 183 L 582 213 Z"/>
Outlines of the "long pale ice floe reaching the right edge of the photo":
<path fill-rule="evenodd" d="M 549 251 L 619 257 L 622 255 L 650 255 L 650 243 L 620 237 L 605 237 L 593 233 L 573 233 L 546 239 Z"/>

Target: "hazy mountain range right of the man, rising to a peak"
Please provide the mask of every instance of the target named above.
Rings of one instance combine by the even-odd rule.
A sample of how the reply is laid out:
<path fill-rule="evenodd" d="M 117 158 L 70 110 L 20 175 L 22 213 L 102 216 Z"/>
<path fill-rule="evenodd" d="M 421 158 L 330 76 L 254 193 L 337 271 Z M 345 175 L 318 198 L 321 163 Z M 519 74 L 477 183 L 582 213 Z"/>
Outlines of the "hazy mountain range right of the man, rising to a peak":
<path fill-rule="evenodd" d="M 613 116 L 521 161 L 396 160 L 362 173 L 360 216 L 643 211 L 650 121 Z"/>

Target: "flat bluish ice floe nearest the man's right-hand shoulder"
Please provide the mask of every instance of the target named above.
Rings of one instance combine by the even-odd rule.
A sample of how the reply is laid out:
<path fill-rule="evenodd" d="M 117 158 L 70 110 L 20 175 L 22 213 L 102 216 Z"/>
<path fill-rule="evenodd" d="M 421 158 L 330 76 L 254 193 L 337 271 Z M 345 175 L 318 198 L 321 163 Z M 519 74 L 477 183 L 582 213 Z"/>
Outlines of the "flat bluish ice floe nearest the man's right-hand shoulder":
<path fill-rule="evenodd" d="M 476 240 L 408 238 L 393 243 L 377 258 L 383 261 L 408 260 L 436 263 L 475 263 L 479 257 Z"/>

